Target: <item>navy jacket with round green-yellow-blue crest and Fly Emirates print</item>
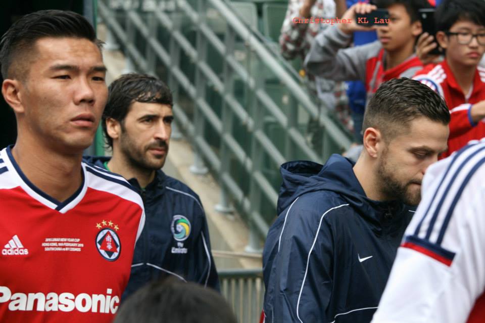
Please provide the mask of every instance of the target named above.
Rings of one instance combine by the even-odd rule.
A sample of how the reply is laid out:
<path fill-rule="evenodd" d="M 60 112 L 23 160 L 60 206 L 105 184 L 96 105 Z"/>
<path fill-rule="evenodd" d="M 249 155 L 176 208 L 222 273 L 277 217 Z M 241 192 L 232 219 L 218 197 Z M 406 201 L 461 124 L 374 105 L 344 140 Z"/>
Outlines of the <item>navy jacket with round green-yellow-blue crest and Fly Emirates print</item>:
<path fill-rule="evenodd" d="M 103 169 L 109 160 L 110 157 L 87 159 Z M 219 290 L 199 196 L 162 170 L 157 170 L 154 180 L 144 190 L 135 178 L 128 181 L 143 199 L 146 221 L 135 246 L 130 280 L 122 299 L 167 275 Z"/>

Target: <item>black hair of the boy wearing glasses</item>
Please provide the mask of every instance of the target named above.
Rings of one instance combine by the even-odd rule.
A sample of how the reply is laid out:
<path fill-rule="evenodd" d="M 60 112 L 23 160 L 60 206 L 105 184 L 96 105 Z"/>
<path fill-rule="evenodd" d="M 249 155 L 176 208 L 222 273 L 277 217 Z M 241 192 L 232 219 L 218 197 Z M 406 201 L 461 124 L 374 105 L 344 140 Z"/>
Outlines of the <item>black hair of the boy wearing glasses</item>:
<path fill-rule="evenodd" d="M 457 21 L 468 20 L 485 27 L 485 1 L 443 0 L 434 14 L 436 29 L 450 30 Z"/>

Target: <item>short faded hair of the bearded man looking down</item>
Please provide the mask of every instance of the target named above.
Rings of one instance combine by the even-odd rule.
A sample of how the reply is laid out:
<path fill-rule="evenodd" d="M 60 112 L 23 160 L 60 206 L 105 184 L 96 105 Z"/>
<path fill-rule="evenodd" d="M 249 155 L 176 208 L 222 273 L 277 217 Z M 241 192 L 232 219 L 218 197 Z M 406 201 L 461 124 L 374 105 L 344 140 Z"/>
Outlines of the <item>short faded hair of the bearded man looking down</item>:
<path fill-rule="evenodd" d="M 363 129 L 379 129 L 385 141 L 406 130 L 413 119 L 450 123 L 450 110 L 443 98 L 428 86 L 406 77 L 383 82 L 364 113 Z"/>

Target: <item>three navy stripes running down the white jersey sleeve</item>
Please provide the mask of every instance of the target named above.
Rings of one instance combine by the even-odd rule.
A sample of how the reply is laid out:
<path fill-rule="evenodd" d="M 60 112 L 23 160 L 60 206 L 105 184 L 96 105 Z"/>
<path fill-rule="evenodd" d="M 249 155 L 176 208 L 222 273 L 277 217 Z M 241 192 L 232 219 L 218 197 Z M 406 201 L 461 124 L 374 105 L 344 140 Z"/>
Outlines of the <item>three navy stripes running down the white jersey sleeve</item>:
<path fill-rule="evenodd" d="M 455 197 L 461 195 L 471 174 L 476 171 L 476 167 L 482 165 L 484 156 L 485 145 L 483 143 L 468 146 L 454 155 L 433 195 L 434 198 L 415 229 L 415 236 L 421 236 L 420 238 L 428 241 L 442 240 L 456 205 Z M 427 226 L 423 225 L 425 220 L 428 221 Z M 435 225 L 440 228 L 439 231 L 433 230 Z"/>

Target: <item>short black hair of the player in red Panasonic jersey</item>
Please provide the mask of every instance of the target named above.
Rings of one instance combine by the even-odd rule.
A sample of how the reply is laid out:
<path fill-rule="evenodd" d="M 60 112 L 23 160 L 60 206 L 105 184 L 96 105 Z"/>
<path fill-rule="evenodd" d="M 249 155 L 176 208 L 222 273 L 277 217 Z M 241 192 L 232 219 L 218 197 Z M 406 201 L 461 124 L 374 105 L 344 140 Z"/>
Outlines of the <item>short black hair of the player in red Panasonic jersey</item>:
<path fill-rule="evenodd" d="M 0 41 L 0 64 L 2 76 L 22 78 L 27 69 L 21 62 L 32 54 L 35 41 L 45 37 L 85 38 L 94 42 L 101 50 L 102 41 L 96 38 L 91 24 L 83 16 L 62 10 L 40 10 L 17 20 Z M 35 53 L 35 52 L 34 52 Z"/>

